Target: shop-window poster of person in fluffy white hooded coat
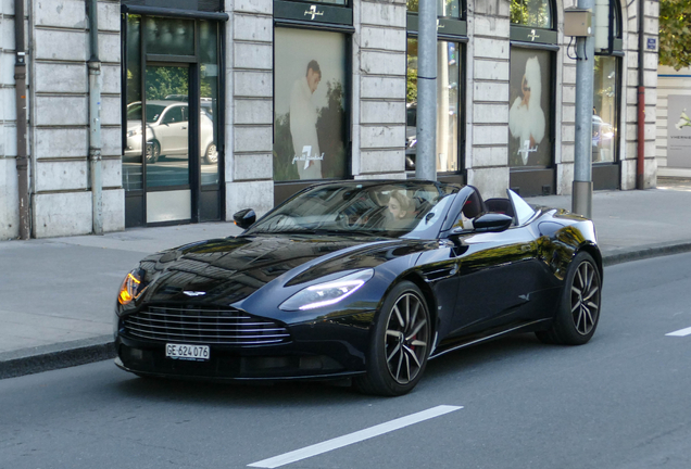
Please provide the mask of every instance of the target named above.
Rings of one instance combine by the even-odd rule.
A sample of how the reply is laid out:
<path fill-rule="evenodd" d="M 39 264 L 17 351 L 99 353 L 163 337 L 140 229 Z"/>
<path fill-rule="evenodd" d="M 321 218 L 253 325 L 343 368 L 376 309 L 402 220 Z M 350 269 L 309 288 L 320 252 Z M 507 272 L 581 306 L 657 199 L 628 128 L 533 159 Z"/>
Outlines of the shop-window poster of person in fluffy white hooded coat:
<path fill-rule="evenodd" d="M 550 81 L 549 52 L 511 52 L 511 109 L 508 111 L 508 163 L 511 166 L 549 166 Z"/>

